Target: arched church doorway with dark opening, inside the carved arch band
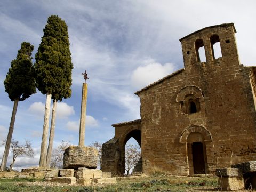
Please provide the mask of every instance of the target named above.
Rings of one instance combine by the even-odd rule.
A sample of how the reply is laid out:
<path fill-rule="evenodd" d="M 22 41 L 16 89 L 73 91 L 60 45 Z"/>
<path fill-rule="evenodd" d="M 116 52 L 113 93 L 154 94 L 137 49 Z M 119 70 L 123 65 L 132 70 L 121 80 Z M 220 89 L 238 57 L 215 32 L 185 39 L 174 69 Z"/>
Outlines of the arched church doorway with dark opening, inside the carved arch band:
<path fill-rule="evenodd" d="M 189 174 L 205 174 L 207 163 L 204 136 L 192 132 L 187 137 L 187 157 Z"/>

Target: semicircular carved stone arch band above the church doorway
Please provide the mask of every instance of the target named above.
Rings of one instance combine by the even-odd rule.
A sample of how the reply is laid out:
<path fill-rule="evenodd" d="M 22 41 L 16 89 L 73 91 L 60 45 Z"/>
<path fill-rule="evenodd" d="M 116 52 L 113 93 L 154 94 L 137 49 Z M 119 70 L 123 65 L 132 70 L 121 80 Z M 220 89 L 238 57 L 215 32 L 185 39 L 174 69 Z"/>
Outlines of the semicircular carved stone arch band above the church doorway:
<path fill-rule="evenodd" d="M 186 143 L 187 137 L 190 133 L 198 132 L 204 137 L 204 141 L 212 141 L 212 135 L 209 130 L 201 125 L 189 125 L 180 134 L 180 143 Z"/>

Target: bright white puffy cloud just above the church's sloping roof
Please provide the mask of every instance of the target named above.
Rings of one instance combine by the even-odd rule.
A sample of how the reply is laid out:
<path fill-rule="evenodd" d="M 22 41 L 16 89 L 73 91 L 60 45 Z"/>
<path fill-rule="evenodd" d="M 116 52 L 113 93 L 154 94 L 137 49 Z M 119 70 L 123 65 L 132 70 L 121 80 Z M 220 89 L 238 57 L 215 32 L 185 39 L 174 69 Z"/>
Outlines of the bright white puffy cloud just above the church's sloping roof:
<path fill-rule="evenodd" d="M 174 65 L 172 63 L 147 62 L 145 66 L 140 66 L 135 69 L 131 75 L 132 86 L 137 89 L 158 81 L 159 79 L 170 75 L 174 71 Z"/>

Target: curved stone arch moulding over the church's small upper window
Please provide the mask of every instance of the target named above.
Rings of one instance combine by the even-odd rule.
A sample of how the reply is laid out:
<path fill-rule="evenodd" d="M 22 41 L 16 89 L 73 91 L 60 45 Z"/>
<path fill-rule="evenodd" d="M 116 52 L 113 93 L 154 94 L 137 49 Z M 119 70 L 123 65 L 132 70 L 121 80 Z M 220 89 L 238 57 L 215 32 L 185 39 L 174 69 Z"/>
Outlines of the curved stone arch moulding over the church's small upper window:
<path fill-rule="evenodd" d="M 204 98 L 203 92 L 197 86 L 191 85 L 183 87 L 177 94 L 176 102 L 184 101 L 187 95 L 194 95 L 195 99 Z"/>

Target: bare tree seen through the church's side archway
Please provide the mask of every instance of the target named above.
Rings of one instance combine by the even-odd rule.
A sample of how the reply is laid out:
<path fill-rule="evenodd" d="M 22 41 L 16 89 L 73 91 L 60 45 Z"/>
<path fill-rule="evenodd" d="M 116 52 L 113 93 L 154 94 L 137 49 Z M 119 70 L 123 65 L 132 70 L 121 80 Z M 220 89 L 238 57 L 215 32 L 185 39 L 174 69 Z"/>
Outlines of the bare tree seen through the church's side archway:
<path fill-rule="evenodd" d="M 125 146 L 125 171 L 127 171 L 127 175 L 129 175 L 129 171 L 137 164 L 140 158 L 140 146 L 132 144 Z"/>

